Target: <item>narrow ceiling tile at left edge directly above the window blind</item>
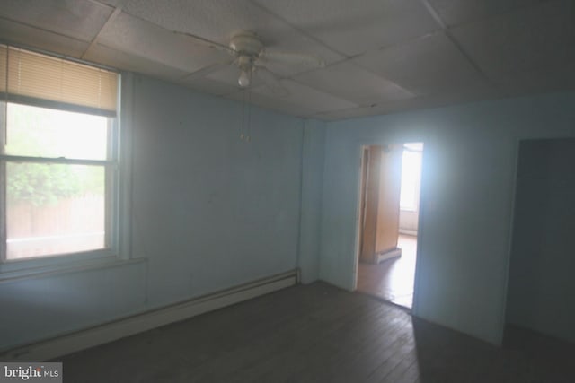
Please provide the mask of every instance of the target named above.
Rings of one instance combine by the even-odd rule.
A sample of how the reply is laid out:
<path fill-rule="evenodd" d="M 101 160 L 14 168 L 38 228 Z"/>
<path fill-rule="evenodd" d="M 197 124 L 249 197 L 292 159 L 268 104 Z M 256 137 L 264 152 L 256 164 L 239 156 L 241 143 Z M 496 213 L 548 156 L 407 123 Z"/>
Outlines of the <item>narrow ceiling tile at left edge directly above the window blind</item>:
<path fill-rule="evenodd" d="M 85 41 L 71 39 L 46 30 L 38 30 L 3 18 L 0 18 L 0 36 L 15 44 L 23 44 L 76 58 L 82 57 L 90 45 Z"/>

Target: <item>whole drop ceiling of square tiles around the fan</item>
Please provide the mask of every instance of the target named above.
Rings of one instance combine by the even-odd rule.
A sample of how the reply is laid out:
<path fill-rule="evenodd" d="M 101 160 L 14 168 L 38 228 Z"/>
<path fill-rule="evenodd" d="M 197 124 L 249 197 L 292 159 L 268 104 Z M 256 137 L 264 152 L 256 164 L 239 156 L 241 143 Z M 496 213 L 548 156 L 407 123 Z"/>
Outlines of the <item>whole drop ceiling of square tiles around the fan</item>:
<path fill-rule="evenodd" d="M 227 45 L 252 30 L 270 51 L 249 100 L 335 120 L 575 90 L 573 0 L 0 0 L 0 39 L 247 100 Z"/>

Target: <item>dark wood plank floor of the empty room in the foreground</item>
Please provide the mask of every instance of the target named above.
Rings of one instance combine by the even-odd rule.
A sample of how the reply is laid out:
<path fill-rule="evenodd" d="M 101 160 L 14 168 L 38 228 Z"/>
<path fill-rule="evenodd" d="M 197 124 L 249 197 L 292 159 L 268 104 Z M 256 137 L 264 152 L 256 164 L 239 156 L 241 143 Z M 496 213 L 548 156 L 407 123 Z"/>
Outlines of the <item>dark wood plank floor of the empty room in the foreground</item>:
<path fill-rule="evenodd" d="M 575 381 L 575 345 L 520 329 L 507 344 L 313 283 L 59 360 L 66 382 Z"/>

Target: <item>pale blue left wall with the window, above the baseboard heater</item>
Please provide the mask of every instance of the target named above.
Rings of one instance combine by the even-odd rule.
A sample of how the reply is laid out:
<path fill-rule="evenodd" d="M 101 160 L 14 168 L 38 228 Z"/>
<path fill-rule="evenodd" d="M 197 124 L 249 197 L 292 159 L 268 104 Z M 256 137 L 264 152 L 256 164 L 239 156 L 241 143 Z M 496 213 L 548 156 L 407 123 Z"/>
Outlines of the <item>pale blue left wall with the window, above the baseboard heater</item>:
<path fill-rule="evenodd" d="M 286 272 L 298 261 L 307 281 L 317 278 L 317 235 L 308 231 L 318 230 L 319 213 L 300 216 L 300 207 L 302 196 L 321 195 L 313 179 L 305 192 L 301 180 L 304 157 L 310 166 L 323 161 L 313 152 L 323 137 L 304 135 L 304 127 L 323 123 L 253 108 L 246 143 L 240 103 L 133 79 L 122 84 L 133 95 L 124 105 L 133 114 L 127 235 L 142 262 L 1 282 L 0 350 Z M 307 250 L 298 258 L 300 235 Z"/>

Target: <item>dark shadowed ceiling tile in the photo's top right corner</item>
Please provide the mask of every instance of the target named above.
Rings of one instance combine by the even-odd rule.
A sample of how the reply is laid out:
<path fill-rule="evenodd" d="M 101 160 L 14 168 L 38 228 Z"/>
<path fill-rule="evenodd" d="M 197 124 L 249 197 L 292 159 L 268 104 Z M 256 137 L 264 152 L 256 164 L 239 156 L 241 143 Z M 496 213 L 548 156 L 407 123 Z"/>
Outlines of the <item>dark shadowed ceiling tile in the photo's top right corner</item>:
<path fill-rule="evenodd" d="M 465 24 L 452 33 L 495 81 L 550 65 L 575 64 L 571 6 L 570 0 L 543 3 Z"/>

